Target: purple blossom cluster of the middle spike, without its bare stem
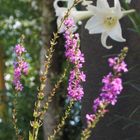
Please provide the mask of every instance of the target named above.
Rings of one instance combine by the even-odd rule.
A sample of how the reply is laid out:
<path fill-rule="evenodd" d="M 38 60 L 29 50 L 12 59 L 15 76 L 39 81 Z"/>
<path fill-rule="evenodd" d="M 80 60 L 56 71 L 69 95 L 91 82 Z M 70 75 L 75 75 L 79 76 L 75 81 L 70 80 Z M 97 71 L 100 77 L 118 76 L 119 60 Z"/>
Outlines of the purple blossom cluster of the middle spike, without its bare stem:
<path fill-rule="evenodd" d="M 70 71 L 69 83 L 68 83 L 68 97 L 73 100 L 80 101 L 84 96 L 82 82 L 85 82 L 86 75 L 81 68 L 85 62 L 84 54 L 79 49 L 79 34 L 72 33 L 70 28 L 75 27 L 72 19 L 66 19 L 64 21 L 66 30 L 64 32 L 65 38 L 65 56 L 69 62 L 74 65 L 74 69 Z"/>

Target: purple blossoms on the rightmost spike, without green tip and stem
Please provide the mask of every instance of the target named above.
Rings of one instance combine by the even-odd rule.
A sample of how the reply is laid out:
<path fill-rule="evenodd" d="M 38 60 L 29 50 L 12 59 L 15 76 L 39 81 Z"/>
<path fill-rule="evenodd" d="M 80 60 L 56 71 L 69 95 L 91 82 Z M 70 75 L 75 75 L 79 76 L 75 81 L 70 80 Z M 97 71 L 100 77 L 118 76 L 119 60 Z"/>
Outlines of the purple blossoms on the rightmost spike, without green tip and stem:
<path fill-rule="evenodd" d="M 96 119 L 98 114 L 104 115 L 108 112 L 108 110 L 106 110 L 107 105 L 115 105 L 118 100 L 118 95 L 123 90 L 122 79 L 120 76 L 121 73 L 128 71 L 127 64 L 119 57 L 109 58 L 108 62 L 109 66 L 113 69 L 113 73 L 110 72 L 103 77 L 101 93 L 93 102 L 94 114 L 86 115 L 87 123 L 94 122 L 94 119 Z"/>

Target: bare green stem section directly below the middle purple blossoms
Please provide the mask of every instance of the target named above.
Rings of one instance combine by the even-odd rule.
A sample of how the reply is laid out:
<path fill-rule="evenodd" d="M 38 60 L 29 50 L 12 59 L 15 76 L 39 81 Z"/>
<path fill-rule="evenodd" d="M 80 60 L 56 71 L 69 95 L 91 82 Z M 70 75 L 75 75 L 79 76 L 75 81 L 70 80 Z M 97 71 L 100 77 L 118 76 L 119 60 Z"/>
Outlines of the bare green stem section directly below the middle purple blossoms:
<path fill-rule="evenodd" d="M 60 123 L 57 125 L 56 129 L 54 129 L 53 134 L 48 137 L 48 140 L 54 140 L 56 134 L 63 128 L 66 119 L 70 116 L 70 111 L 73 105 L 74 105 L 74 101 L 71 100 Z"/>

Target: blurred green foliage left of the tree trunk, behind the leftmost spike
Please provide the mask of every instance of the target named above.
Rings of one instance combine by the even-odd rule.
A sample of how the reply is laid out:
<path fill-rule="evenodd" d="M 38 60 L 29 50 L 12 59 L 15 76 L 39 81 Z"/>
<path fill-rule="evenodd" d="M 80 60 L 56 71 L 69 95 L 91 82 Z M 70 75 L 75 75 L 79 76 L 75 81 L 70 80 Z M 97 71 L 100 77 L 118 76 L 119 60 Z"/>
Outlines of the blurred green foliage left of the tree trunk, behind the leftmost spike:
<path fill-rule="evenodd" d="M 1 0 L 0 1 L 0 47 L 3 47 L 5 60 L 5 85 L 7 95 L 8 115 L 7 121 L 1 120 L 0 139 L 15 139 L 15 133 L 11 123 L 12 101 L 14 90 L 11 85 L 13 80 L 13 46 L 18 43 L 18 38 L 22 34 L 26 36 L 25 44 L 28 54 L 27 61 L 30 63 L 28 78 L 23 77 L 25 88 L 18 98 L 18 126 L 25 130 L 24 135 L 27 139 L 32 119 L 32 111 L 36 96 L 36 85 L 38 85 L 39 51 L 41 48 L 41 11 L 37 0 Z M 12 54 L 12 55 L 11 55 Z"/>

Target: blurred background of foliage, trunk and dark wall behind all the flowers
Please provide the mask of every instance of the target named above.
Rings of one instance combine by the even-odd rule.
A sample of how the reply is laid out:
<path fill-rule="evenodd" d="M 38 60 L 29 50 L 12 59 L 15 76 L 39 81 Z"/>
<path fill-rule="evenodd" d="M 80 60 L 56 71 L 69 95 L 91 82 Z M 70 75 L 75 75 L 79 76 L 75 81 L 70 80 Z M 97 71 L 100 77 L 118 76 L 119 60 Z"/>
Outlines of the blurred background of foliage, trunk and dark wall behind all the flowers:
<path fill-rule="evenodd" d="M 136 13 L 121 20 L 126 43 L 116 44 L 109 39 L 109 43 L 115 47 L 106 50 L 101 46 L 100 36 L 89 35 L 84 29 L 84 22 L 78 30 L 81 35 L 81 49 L 86 58 L 84 70 L 87 74 L 87 82 L 83 85 L 85 97 L 82 103 L 74 105 L 71 117 L 67 120 L 62 132 L 57 135 L 57 140 L 80 139 L 80 132 L 86 125 L 85 114 L 92 112 L 92 102 L 99 94 L 101 79 L 110 70 L 107 66 L 107 58 L 118 54 L 123 46 L 129 47 L 126 60 L 129 72 L 123 77 L 125 90 L 118 104 L 110 108 L 110 112 L 93 130 L 90 139 L 140 140 L 140 1 L 132 0 L 131 5 L 127 5 L 125 0 L 121 2 L 125 9 L 137 10 Z M 63 6 L 62 2 L 59 4 Z M 84 9 L 79 6 L 78 8 Z M 18 97 L 17 117 L 20 133 L 24 135 L 25 140 L 28 140 L 29 129 L 31 129 L 30 120 L 33 119 L 32 112 L 39 86 L 39 73 L 43 67 L 44 54 L 49 47 L 49 39 L 55 30 L 53 0 L 0 0 L 0 140 L 16 139 L 12 125 L 12 102 L 15 94 L 12 87 L 15 60 L 13 48 L 24 34 L 24 46 L 28 52 L 25 57 L 30 64 L 30 71 L 28 77 L 22 77 L 24 90 Z M 48 75 L 49 80 L 46 83 L 46 94 L 66 66 L 63 45 L 64 39 L 60 35 Z M 39 140 L 47 140 L 47 136 L 59 122 L 68 104 L 67 79 L 68 75 L 44 119 Z"/>

